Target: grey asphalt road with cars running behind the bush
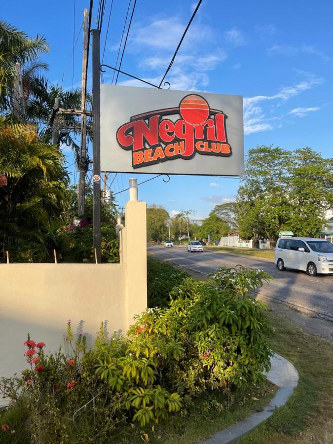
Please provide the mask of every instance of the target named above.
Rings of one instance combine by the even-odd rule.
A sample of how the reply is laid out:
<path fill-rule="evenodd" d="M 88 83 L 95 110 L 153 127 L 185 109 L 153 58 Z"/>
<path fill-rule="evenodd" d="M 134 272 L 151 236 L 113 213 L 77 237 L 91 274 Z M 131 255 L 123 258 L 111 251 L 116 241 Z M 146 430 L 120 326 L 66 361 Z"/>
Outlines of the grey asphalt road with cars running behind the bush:
<path fill-rule="evenodd" d="M 220 266 L 233 267 L 237 264 L 260 268 L 274 281 L 264 284 L 259 291 L 260 298 L 279 304 L 282 310 L 297 310 L 305 314 L 298 324 L 311 333 L 333 338 L 333 276 L 310 277 L 302 271 L 279 271 L 273 260 L 226 252 L 205 250 L 203 253 L 188 253 L 186 247 L 164 248 L 148 246 L 148 253 L 154 257 L 181 265 L 189 270 L 209 274 Z M 296 319 L 294 319 L 296 320 Z"/>

